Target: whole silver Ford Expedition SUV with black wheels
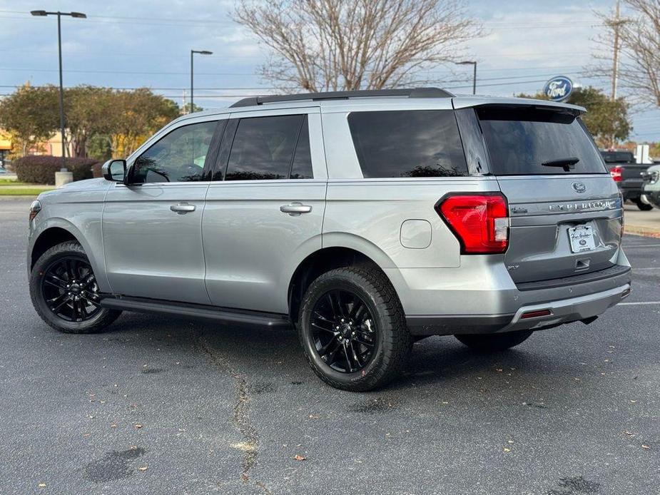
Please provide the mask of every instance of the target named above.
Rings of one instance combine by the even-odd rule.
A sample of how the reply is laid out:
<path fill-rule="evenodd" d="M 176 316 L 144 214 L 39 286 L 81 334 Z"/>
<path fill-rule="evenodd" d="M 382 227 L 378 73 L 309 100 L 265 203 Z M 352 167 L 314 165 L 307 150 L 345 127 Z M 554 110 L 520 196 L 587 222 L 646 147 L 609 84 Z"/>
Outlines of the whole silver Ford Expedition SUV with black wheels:
<path fill-rule="evenodd" d="M 584 108 L 437 88 L 248 98 L 173 121 L 31 206 L 34 307 L 297 328 L 333 387 L 411 343 L 479 351 L 592 322 L 630 292 L 616 184 Z"/>

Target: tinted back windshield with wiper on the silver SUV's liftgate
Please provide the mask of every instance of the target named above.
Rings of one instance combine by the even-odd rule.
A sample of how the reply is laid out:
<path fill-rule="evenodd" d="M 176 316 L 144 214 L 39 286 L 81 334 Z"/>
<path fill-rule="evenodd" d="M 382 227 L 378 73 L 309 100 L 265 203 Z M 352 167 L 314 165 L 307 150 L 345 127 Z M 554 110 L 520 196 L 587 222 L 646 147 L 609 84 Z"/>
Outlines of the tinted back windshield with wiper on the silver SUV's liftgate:
<path fill-rule="evenodd" d="M 495 175 L 607 173 L 582 121 L 541 109 L 477 108 Z M 574 168 L 542 165 L 579 158 Z"/>

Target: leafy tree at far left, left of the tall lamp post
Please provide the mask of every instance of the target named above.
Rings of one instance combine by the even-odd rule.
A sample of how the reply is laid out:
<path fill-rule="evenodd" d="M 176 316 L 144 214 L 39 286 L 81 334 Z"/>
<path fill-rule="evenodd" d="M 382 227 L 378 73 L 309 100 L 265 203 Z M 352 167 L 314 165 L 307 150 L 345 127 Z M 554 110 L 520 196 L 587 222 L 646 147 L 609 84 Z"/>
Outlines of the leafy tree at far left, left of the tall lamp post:
<path fill-rule="evenodd" d="M 21 156 L 59 128 L 58 89 L 26 83 L 0 101 L 0 127 L 21 143 Z"/>

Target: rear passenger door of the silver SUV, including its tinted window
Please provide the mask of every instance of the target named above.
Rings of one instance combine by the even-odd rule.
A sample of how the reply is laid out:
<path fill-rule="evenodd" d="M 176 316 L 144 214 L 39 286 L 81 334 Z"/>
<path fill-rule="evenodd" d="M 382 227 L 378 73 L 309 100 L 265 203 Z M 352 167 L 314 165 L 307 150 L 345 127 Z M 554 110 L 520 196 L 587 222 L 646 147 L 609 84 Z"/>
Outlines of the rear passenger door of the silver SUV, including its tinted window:
<path fill-rule="evenodd" d="M 202 221 L 213 305 L 287 312 L 291 275 L 321 248 L 321 143 L 318 107 L 231 115 Z"/>

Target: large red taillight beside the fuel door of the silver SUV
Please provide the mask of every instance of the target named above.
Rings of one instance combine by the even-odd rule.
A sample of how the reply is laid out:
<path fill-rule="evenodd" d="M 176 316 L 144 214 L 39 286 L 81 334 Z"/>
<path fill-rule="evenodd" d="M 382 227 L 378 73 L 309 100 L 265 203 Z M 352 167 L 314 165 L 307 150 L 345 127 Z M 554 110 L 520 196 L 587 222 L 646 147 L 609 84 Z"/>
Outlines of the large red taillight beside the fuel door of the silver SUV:
<path fill-rule="evenodd" d="M 507 198 L 494 194 L 452 194 L 436 205 L 461 243 L 463 254 L 496 254 L 509 246 Z"/>

